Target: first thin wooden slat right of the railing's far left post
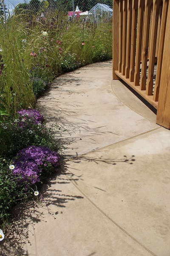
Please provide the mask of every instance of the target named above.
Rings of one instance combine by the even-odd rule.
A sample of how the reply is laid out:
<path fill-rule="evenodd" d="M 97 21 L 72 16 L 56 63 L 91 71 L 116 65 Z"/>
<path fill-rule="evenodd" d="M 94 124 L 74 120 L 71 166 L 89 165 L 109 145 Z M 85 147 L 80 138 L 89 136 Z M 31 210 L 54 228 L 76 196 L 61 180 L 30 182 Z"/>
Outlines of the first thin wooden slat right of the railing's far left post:
<path fill-rule="evenodd" d="M 123 1 L 119 0 L 119 72 L 122 72 Z"/>

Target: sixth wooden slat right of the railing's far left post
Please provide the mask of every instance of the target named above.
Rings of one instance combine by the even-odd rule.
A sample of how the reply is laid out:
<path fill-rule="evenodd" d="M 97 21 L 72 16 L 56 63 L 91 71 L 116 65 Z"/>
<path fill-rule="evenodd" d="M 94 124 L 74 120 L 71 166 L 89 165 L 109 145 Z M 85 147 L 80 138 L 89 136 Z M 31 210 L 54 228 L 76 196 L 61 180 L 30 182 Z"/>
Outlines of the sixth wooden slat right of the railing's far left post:
<path fill-rule="evenodd" d="M 147 54 L 149 45 L 149 28 L 150 28 L 150 9 L 151 1 L 145 0 L 145 12 L 144 12 L 144 36 L 142 47 L 142 70 L 140 80 L 140 90 L 146 90 L 146 71 L 147 71 Z"/>

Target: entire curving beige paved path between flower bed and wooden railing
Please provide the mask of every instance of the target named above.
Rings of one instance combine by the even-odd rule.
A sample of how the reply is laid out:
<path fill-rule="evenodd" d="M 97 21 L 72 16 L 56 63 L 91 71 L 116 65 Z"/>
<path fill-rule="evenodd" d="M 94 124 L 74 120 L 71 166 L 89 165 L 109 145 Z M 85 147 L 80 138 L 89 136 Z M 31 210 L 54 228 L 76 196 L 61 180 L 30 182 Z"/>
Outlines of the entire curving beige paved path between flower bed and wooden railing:
<path fill-rule="evenodd" d="M 68 129 L 65 173 L 42 188 L 48 209 L 16 209 L 22 236 L 4 255 L 170 256 L 170 131 L 112 62 L 55 79 L 38 108 Z"/>

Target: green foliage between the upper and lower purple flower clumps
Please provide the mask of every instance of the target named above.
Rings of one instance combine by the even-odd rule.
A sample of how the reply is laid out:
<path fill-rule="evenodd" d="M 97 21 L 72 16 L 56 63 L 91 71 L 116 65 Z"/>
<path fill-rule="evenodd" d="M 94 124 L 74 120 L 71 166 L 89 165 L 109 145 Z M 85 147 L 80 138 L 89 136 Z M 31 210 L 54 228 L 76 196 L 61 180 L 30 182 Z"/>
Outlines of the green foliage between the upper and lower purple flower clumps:
<path fill-rule="evenodd" d="M 61 146 L 57 144 L 53 136 L 54 131 L 57 132 L 60 129 L 58 125 L 51 125 L 47 128 L 45 123 L 36 124 L 32 120 L 25 119 L 23 120 L 24 127 L 22 127 L 21 122 L 19 119 L 6 119 L 6 122 L 1 125 L 4 135 L 0 138 L 0 144 L 3 144 L 1 157 L 11 159 L 20 149 L 28 145 L 44 146 L 55 151 L 61 150 Z"/>

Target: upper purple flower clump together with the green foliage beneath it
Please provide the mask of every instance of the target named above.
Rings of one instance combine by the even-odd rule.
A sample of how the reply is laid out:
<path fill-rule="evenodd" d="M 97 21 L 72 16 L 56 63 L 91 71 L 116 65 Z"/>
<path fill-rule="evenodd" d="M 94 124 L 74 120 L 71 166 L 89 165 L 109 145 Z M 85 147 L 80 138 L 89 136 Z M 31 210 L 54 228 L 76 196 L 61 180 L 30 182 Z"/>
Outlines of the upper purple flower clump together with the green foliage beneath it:
<path fill-rule="evenodd" d="M 17 112 L 17 119 L 5 122 L 4 127 L 5 136 L 0 138 L 0 144 L 5 145 L 2 157 L 12 159 L 19 150 L 30 145 L 48 147 L 54 151 L 61 149 L 53 135 L 58 125 L 47 127 L 42 114 L 35 109 L 21 109 Z"/>

